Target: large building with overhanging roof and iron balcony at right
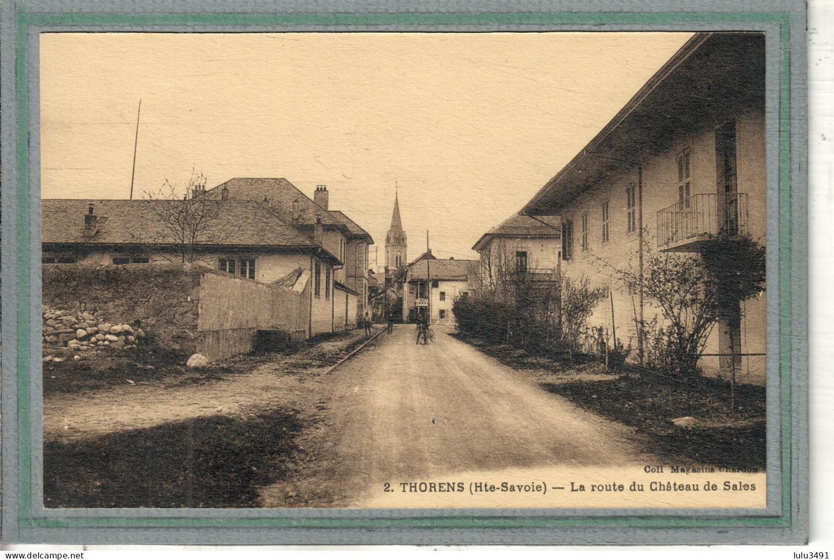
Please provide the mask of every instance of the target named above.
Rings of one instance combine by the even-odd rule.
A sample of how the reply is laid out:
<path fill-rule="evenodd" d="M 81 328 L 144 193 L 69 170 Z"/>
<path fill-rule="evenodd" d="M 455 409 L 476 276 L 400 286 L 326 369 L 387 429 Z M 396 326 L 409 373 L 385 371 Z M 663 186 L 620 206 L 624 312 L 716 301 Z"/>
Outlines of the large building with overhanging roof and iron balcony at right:
<path fill-rule="evenodd" d="M 591 321 L 632 359 L 661 310 L 612 270 L 642 278 L 648 254 L 696 256 L 718 235 L 765 245 L 765 137 L 764 35 L 696 33 L 522 210 L 560 216 L 563 273 L 610 288 Z M 765 299 L 711 331 L 705 373 L 764 382 Z"/>

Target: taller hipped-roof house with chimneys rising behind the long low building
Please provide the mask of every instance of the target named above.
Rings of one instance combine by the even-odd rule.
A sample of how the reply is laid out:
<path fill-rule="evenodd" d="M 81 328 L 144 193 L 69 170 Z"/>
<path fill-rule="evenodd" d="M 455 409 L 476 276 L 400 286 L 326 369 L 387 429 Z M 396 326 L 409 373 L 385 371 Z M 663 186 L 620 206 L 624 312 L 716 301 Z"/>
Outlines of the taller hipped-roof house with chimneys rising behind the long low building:
<path fill-rule="evenodd" d="M 368 248 L 374 240 L 346 214 L 329 209 L 329 191 L 324 185 L 316 187 L 314 199 L 302 193 L 294 184 L 280 177 L 238 177 L 219 184 L 206 193 L 225 190 L 230 200 L 252 200 L 278 214 L 296 230 L 313 238 L 317 223 L 322 225 L 322 245 L 336 255 L 342 266 L 334 269 L 334 280 L 347 286 L 357 295 L 356 314 L 364 315 L 368 301 Z M 346 298 L 347 294 L 339 294 Z M 355 320 L 351 318 L 355 324 Z"/>

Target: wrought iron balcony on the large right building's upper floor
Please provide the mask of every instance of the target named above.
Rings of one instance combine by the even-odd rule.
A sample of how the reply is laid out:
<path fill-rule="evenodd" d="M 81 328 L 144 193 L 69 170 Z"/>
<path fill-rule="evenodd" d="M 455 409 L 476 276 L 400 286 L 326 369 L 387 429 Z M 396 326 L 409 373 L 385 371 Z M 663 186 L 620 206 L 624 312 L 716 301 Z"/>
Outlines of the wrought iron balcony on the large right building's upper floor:
<path fill-rule="evenodd" d="M 718 234 L 747 233 L 746 194 L 693 194 L 657 212 L 657 246 L 696 252 Z"/>

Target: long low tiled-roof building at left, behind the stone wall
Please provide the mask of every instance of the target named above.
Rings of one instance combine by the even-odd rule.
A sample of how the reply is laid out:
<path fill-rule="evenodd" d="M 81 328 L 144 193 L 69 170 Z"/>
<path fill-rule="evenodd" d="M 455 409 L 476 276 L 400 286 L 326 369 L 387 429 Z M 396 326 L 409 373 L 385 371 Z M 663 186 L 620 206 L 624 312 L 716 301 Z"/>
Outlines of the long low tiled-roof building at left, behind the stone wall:
<path fill-rule="evenodd" d="M 321 224 L 314 225 L 311 239 L 263 204 L 213 199 L 201 203 L 212 208 L 205 230 L 193 243 L 183 244 L 181 232 L 166 225 L 165 217 L 189 202 L 43 199 L 42 262 L 131 265 L 192 260 L 297 291 L 309 284 L 309 335 L 339 330 L 334 329 L 334 269 L 343 263 L 317 242 L 324 235 Z"/>

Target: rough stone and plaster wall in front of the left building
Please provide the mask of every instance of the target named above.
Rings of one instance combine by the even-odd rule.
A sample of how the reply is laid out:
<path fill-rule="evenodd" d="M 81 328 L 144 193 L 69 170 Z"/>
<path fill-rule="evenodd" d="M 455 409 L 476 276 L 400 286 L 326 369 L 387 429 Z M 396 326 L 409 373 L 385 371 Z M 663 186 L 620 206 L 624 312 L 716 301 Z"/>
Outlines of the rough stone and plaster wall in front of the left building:
<path fill-rule="evenodd" d="M 168 263 L 43 265 L 42 273 L 46 308 L 130 325 L 147 344 L 186 357 L 252 351 L 261 329 L 286 330 L 294 341 L 309 335 L 309 286 L 299 292 Z"/>

